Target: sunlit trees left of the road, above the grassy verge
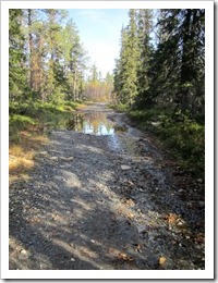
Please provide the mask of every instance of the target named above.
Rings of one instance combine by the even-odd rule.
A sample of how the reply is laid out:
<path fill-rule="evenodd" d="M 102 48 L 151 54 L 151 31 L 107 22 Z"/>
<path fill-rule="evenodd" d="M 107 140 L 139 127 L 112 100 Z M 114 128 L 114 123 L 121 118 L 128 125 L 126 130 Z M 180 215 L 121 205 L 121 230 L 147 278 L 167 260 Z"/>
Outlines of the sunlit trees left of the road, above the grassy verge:
<path fill-rule="evenodd" d="M 10 102 L 109 99 L 112 75 L 102 78 L 95 65 L 89 67 L 78 29 L 68 16 L 58 9 L 10 10 Z"/>

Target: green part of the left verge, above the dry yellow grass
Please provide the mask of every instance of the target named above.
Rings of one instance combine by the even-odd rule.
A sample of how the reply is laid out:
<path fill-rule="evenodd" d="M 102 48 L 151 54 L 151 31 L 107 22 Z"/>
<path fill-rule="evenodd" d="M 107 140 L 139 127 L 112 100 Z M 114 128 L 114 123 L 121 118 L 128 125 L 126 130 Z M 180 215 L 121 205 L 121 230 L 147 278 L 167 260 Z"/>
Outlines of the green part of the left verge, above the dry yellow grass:
<path fill-rule="evenodd" d="M 39 101 L 10 103 L 9 136 L 10 143 L 21 144 L 22 132 L 31 135 L 49 133 L 52 128 L 62 128 L 72 115 L 78 102 L 63 101 L 60 104 Z"/>

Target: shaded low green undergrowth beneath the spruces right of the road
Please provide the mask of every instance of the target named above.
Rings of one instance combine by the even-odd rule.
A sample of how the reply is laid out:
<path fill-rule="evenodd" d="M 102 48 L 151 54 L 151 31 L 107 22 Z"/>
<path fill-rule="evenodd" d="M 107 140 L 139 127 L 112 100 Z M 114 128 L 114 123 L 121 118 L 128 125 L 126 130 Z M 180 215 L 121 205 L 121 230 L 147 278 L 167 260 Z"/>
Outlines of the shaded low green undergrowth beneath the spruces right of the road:
<path fill-rule="evenodd" d="M 181 112 L 162 109 L 133 110 L 131 120 L 144 131 L 154 134 L 180 167 L 204 179 L 205 126 Z"/>

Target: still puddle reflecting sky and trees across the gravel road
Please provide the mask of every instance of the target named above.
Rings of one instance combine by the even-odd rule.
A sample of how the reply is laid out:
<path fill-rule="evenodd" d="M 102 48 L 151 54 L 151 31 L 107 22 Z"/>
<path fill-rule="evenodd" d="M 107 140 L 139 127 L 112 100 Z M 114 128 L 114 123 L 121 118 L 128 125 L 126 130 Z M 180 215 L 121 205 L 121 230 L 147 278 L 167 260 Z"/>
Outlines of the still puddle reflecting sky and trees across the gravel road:
<path fill-rule="evenodd" d="M 75 113 L 68 122 L 68 130 L 84 134 L 113 135 L 113 123 L 102 112 Z"/>

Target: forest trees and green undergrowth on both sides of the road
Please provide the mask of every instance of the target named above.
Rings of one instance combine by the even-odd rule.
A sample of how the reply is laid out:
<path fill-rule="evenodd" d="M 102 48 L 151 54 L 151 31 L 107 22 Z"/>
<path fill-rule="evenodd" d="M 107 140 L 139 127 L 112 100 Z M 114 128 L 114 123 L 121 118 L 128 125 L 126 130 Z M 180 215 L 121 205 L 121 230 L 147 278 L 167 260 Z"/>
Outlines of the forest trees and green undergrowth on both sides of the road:
<path fill-rule="evenodd" d="M 130 10 L 106 77 L 89 66 L 66 10 L 11 9 L 9 48 L 10 145 L 25 142 L 22 131 L 49 131 L 77 103 L 109 101 L 204 174 L 204 10 Z"/>

